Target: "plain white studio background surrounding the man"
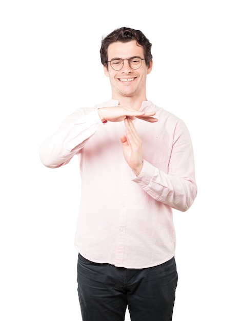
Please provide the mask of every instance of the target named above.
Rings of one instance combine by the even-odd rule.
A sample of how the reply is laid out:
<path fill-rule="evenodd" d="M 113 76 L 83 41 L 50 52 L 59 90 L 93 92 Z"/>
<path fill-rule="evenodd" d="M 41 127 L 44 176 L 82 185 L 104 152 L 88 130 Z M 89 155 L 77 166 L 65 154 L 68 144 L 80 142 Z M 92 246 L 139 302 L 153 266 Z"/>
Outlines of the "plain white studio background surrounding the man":
<path fill-rule="evenodd" d="M 81 319 L 77 159 L 50 170 L 38 151 L 76 108 L 110 98 L 100 41 L 122 26 L 150 39 L 147 98 L 182 118 L 194 145 L 198 196 L 174 212 L 173 320 L 241 320 L 241 16 L 233 0 L 1 4 L 1 320 Z"/>

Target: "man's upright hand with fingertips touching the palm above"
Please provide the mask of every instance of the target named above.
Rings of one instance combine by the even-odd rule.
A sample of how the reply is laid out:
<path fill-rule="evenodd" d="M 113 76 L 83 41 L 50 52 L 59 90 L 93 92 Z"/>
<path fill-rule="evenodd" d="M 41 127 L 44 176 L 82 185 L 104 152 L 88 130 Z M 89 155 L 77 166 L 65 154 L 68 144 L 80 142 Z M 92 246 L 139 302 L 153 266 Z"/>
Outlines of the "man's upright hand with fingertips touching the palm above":
<path fill-rule="evenodd" d="M 123 152 L 126 162 L 135 173 L 139 175 L 143 168 L 142 140 L 130 118 L 124 119 L 126 136 L 121 136 L 120 141 L 123 145 Z"/>

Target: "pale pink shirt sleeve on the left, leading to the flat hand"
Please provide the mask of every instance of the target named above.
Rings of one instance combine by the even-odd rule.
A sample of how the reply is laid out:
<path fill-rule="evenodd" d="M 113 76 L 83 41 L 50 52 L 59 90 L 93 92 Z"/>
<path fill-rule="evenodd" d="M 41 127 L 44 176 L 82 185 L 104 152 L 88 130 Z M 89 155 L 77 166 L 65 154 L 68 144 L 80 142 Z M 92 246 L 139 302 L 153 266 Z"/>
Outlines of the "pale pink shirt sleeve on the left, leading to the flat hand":
<path fill-rule="evenodd" d="M 89 108 L 90 110 L 90 108 Z M 82 149 L 96 131 L 105 126 L 94 109 L 76 110 L 65 119 L 59 129 L 42 144 L 39 156 L 49 168 L 66 165 Z"/>

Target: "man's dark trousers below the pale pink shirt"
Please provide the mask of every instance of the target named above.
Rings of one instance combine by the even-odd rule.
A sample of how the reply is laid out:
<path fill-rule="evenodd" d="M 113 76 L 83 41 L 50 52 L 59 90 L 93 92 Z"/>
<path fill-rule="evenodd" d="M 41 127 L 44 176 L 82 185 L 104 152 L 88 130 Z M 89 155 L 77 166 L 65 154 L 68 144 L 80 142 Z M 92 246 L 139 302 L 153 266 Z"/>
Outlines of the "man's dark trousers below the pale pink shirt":
<path fill-rule="evenodd" d="M 117 268 L 78 255 L 77 283 L 83 321 L 171 321 L 177 286 L 175 258 L 146 269 Z"/>

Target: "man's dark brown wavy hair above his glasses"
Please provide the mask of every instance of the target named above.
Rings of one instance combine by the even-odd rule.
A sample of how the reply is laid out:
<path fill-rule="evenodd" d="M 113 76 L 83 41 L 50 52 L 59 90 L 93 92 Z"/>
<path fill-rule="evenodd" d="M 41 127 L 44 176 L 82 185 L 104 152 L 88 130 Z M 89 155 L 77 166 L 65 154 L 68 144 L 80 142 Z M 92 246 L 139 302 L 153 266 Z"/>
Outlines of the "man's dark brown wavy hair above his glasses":
<path fill-rule="evenodd" d="M 128 43 L 132 40 L 135 40 L 139 46 L 142 46 L 144 49 L 146 65 L 149 66 L 152 54 L 151 54 L 151 43 L 140 30 L 135 30 L 132 28 L 122 27 L 115 29 L 107 36 L 104 36 L 102 39 L 102 46 L 100 49 L 101 62 L 104 66 L 108 64 L 108 46 L 117 41 L 122 43 Z"/>

